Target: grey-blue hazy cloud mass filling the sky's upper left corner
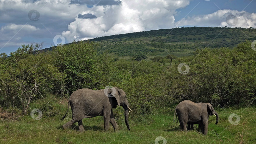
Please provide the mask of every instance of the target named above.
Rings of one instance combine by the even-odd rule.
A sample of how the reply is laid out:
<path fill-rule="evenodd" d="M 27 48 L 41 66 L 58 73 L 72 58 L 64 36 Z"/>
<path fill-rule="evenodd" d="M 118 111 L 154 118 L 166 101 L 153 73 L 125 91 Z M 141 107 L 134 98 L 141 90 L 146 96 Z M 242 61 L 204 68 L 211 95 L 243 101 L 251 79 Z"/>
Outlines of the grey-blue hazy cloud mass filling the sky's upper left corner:
<path fill-rule="evenodd" d="M 29 19 L 32 9 L 40 13 L 38 21 Z M 89 9 L 86 5 L 70 4 L 70 0 L 1 0 L 0 53 L 15 51 L 17 44 L 34 41 L 45 42 L 47 47 L 54 45 L 54 36 L 66 30 L 78 14 Z"/>

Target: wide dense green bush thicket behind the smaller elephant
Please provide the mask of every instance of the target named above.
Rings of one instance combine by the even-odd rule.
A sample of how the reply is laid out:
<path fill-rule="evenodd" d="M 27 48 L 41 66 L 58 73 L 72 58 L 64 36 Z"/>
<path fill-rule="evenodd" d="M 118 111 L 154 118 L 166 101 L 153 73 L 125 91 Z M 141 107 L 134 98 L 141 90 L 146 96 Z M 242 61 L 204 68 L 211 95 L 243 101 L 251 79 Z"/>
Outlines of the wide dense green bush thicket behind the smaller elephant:
<path fill-rule="evenodd" d="M 179 59 L 180 63 L 187 63 L 190 70 L 187 75 L 174 73 L 177 76 L 169 93 L 180 100 L 220 106 L 248 105 L 256 98 L 255 54 L 249 41 L 233 50 L 197 50 L 194 56 Z"/>

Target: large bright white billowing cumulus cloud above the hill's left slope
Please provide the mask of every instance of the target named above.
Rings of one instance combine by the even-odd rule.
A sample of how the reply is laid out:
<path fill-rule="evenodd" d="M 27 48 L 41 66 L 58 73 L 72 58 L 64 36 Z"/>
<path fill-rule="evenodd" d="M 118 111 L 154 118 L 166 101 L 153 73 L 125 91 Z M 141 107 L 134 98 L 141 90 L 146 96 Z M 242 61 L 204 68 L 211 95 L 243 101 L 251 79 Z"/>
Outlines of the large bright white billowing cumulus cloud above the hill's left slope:
<path fill-rule="evenodd" d="M 95 38 L 122 33 L 174 27 L 176 9 L 189 5 L 182 1 L 127 1 L 114 5 L 96 5 L 83 11 L 95 15 L 93 19 L 80 19 L 78 15 L 62 35 L 69 41 Z"/>

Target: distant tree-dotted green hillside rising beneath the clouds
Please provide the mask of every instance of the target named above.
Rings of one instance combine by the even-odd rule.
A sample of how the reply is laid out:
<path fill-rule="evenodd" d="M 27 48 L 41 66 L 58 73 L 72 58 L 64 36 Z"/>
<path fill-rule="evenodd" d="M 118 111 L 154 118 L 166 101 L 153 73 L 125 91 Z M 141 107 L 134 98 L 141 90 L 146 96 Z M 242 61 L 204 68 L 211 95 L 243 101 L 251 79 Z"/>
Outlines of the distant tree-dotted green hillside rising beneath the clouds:
<path fill-rule="evenodd" d="M 256 29 L 229 27 L 182 27 L 145 32 L 103 36 L 98 42 L 98 51 L 108 51 L 120 58 L 130 58 L 142 53 L 153 56 L 173 54 L 177 57 L 191 55 L 196 49 L 234 48 L 237 44 L 256 39 Z"/>

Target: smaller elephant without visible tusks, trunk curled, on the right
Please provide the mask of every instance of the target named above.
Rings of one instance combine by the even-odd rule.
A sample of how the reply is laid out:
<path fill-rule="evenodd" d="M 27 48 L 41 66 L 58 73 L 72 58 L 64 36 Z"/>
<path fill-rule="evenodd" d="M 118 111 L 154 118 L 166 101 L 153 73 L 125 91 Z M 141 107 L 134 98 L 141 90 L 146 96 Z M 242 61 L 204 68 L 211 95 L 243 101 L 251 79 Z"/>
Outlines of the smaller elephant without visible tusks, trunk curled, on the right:
<path fill-rule="evenodd" d="M 182 130 L 187 131 L 187 123 L 189 125 L 199 124 L 204 135 L 207 135 L 208 132 L 208 115 L 216 115 L 215 124 L 217 124 L 219 120 L 218 113 L 214 110 L 210 103 L 194 103 L 190 100 L 184 100 L 180 102 L 175 108 L 174 121 L 176 112 L 180 122 L 180 128 Z"/>

